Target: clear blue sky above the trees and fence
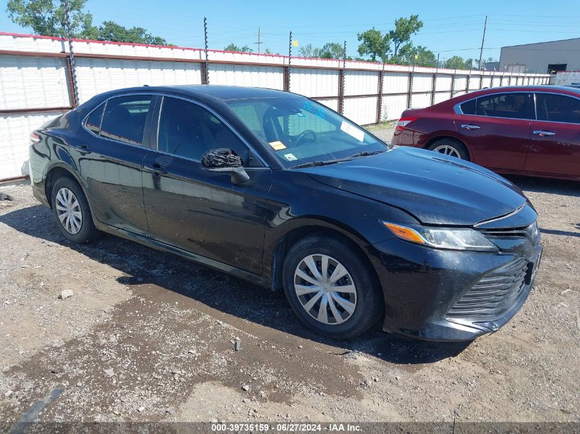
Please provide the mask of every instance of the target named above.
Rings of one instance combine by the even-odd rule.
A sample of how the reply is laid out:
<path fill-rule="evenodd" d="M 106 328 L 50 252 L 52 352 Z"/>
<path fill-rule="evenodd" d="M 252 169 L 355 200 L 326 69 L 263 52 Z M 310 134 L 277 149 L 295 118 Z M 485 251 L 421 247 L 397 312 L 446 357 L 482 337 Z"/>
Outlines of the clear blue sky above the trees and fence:
<path fill-rule="evenodd" d="M 89 0 L 86 6 L 95 23 L 113 20 L 128 27 L 146 27 L 185 47 L 203 46 L 202 21 L 207 16 L 209 47 L 213 49 L 234 42 L 257 50 L 255 34 L 260 27 L 262 50 L 268 47 L 275 53 L 288 53 L 288 32 L 292 30 L 300 45 L 316 47 L 347 40 L 349 56 L 357 56 L 358 32 L 373 25 L 390 29 L 397 17 L 419 14 L 424 28 L 413 42 L 445 59 L 455 54 L 478 58 L 486 14 L 484 58 L 499 58 L 499 48 L 505 45 L 580 37 L 577 1 Z M 26 32 L 4 12 L 6 1 L 0 5 L 0 31 Z"/>

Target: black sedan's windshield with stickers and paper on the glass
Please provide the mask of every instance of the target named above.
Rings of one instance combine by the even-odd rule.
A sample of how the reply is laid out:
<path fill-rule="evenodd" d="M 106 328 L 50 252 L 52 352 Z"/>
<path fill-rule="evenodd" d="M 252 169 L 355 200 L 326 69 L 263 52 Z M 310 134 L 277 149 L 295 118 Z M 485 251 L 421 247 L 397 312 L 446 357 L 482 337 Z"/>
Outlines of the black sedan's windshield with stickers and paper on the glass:
<path fill-rule="evenodd" d="M 292 96 L 226 103 L 270 145 L 284 167 L 386 151 L 386 145 L 364 129 L 310 99 Z"/>

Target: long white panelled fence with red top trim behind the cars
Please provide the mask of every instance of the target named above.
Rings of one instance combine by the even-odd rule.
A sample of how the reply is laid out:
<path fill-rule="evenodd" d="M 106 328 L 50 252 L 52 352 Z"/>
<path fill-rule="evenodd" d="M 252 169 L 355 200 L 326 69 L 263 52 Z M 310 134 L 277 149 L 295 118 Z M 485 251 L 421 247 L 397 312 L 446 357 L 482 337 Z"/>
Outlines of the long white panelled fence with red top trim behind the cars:
<path fill-rule="evenodd" d="M 93 95 L 169 84 L 260 86 L 311 97 L 361 125 L 398 119 L 485 87 L 547 84 L 549 75 L 434 69 L 184 47 L 73 40 L 0 32 L 0 180 L 27 175 L 34 128 Z"/>

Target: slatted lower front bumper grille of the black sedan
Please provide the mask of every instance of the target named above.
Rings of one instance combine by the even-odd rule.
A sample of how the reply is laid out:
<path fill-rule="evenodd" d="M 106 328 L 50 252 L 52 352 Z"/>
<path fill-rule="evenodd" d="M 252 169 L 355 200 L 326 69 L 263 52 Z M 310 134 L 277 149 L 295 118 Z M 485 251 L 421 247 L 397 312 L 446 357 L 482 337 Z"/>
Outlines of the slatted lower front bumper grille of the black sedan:
<path fill-rule="evenodd" d="M 454 304 L 447 316 L 477 321 L 501 317 L 522 295 L 530 264 L 518 258 L 485 275 Z"/>

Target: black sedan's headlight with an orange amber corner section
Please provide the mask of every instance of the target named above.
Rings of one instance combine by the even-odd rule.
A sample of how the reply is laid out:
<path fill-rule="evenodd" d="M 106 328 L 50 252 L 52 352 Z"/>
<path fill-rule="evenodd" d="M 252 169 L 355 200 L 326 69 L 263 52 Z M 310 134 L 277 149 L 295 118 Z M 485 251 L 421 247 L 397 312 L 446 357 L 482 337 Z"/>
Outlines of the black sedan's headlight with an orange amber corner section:
<path fill-rule="evenodd" d="M 439 249 L 478 250 L 497 252 L 499 249 L 482 234 L 473 229 L 428 228 L 424 226 L 402 226 L 399 224 L 381 222 L 391 230 L 397 238 L 411 243 L 429 245 Z"/>

